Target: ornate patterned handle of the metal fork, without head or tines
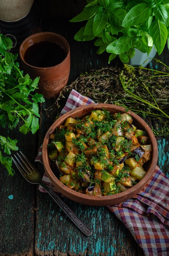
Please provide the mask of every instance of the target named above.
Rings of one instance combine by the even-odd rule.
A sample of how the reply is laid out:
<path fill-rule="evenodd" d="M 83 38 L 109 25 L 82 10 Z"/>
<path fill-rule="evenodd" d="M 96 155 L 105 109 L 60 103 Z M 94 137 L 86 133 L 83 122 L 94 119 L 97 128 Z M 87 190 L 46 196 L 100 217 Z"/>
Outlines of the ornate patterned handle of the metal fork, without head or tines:
<path fill-rule="evenodd" d="M 55 200 L 59 207 L 66 213 L 66 215 L 72 220 L 72 222 L 86 235 L 90 236 L 92 231 L 83 223 L 81 219 L 65 204 L 58 195 L 56 195 L 51 189 L 44 183 L 41 186 L 48 192 L 48 194 Z"/>

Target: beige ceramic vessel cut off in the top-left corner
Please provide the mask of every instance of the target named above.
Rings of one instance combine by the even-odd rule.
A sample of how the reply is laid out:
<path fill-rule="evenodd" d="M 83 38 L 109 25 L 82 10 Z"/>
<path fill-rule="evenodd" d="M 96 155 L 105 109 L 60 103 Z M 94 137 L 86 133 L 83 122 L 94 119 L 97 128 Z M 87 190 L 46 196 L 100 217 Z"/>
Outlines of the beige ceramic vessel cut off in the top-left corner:
<path fill-rule="evenodd" d="M 0 0 L 0 20 L 14 22 L 26 17 L 34 0 Z"/>

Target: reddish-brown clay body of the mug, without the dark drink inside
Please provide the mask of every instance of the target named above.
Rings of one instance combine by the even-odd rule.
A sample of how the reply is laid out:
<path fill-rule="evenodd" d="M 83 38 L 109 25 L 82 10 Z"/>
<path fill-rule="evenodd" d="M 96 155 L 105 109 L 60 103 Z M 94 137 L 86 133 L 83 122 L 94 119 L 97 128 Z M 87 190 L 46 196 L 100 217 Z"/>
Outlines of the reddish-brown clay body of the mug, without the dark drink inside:
<path fill-rule="evenodd" d="M 56 43 L 64 49 L 64 60 L 51 67 L 37 67 L 27 63 L 25 61 L 25 55 L 28 48 L 46 41 Z M 53 32 L 33 34 L 22 42 L 19 54 L 24 74 L 29 74 L 31 79 L 40 76 L 37 92 L 43 94 L 45 99 L 57 97 L 61 89 L 67 85 L 70 74 L 70 47 L 67 40 L 63 36 Z"/>

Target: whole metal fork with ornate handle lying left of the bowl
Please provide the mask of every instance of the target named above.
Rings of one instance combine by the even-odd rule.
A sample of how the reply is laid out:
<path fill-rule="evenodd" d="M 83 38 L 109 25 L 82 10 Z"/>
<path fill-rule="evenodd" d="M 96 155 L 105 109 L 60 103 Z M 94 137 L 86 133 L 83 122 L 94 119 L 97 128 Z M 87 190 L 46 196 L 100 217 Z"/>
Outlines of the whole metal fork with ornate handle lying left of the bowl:
<path fill-rule="evenodd" d="M 66 213 L 66 215 L 72 220 L 72 222 L 86 235 L 90 236 L 92 231 L 79 219 L 79 217 L 56 195 L 51 189 L 48 188 L 43 182 L 41 173 L 37 168 L 29 161 L 29 159 L 20 151 L 18 156 L 12 157 L 14 164 L 17 166 L 20 173 L 24 178 L 32 184 L 40 184 L 48 194 L 55 200 L 59 207 Z"/>

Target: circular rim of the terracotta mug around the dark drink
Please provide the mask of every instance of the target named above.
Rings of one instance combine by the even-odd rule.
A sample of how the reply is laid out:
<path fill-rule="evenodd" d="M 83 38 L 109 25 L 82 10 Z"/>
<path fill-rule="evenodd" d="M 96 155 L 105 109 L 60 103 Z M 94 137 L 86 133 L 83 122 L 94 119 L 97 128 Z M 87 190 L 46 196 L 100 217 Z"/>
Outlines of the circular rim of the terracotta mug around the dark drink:
<path fill-rule="evenodd" d="M 70 46 L 69 46 L 69 43 L 68 43 L 68 41 L 66 40 L 66 38 L 64 38 L 64 36 L 61 36 L 60 34 L 57 34 L 57 33 L 54 33 L 54 32 L 45 31 L 45 32 L 39 32 L 39 33 L 36 33 L 36 34 L 32 34 L 31 36 L 28 36 L 27 38 L 25 38 L 25 39 L 22 41 L 22 43 L 21 43 L 21 45 L 20 45 L 20 48 L 19 48 L 19 54 L 20 54 L 20 58 L 22 59 L 22 61 L 23 61 L 26 65 L 28 65 L 28 66 L 30 66 L 30 67 L 37 68 L 37 69 L 42 69 L 42 70 L 43 70 L 43 69 L 49 70 L 49 69 L 52 69 L 53 67 L 55 67 L 55 66 L 51 66 L 51 67 L 36 67 L 36 66 L 33 66 L 33 65 L 27 63 L 27 62 L 24 60 L 24 56 L 23 56 L 23 54 L 22 54 L 23 49 L 24 49 L 24 45 L 26 44 L 26 42 L 29 42 L 29 41 L 30 41 L 30 45 L 29 45 L 29 46 L 31 46 L 31 45 L 33 44 L 33 41 L 32 41 L 32 43 L 31 43 L 31 40 L 33 40 L 34 38 L 39 37 L 39 40 L 38 40 L 37 42 L 39 42 L 39 41 L 44 41 L 44 40 L 42 40 L 41 38 L 42 38 L 42 36 L 46 36 L 46 35 L 48 35 L 48 36 L 55 36 L 55 37 L 61 39 L 61 40 L 64 42 L 64 45 L 65 45 L 65 46 L 64 46 L 64 49 L 67 48 L 67 49 L 66 49 L 66 57 L 64 58 L 63 61 L 61 61 L 60 63 L 58 63 L 58 64 L 55 65 L 55 66 L 61 65 L 61 64 L 62 64 L 63 62 L 65 62 L 66 59 L 68 58 L 68 56 L 69 56 L 69 54 L 70 54 Z M 37 42 L 36 42 L 36 43 L 37 43 Z M 63 45 L 62 45 L 62 46 L 63 46 Z"/>

